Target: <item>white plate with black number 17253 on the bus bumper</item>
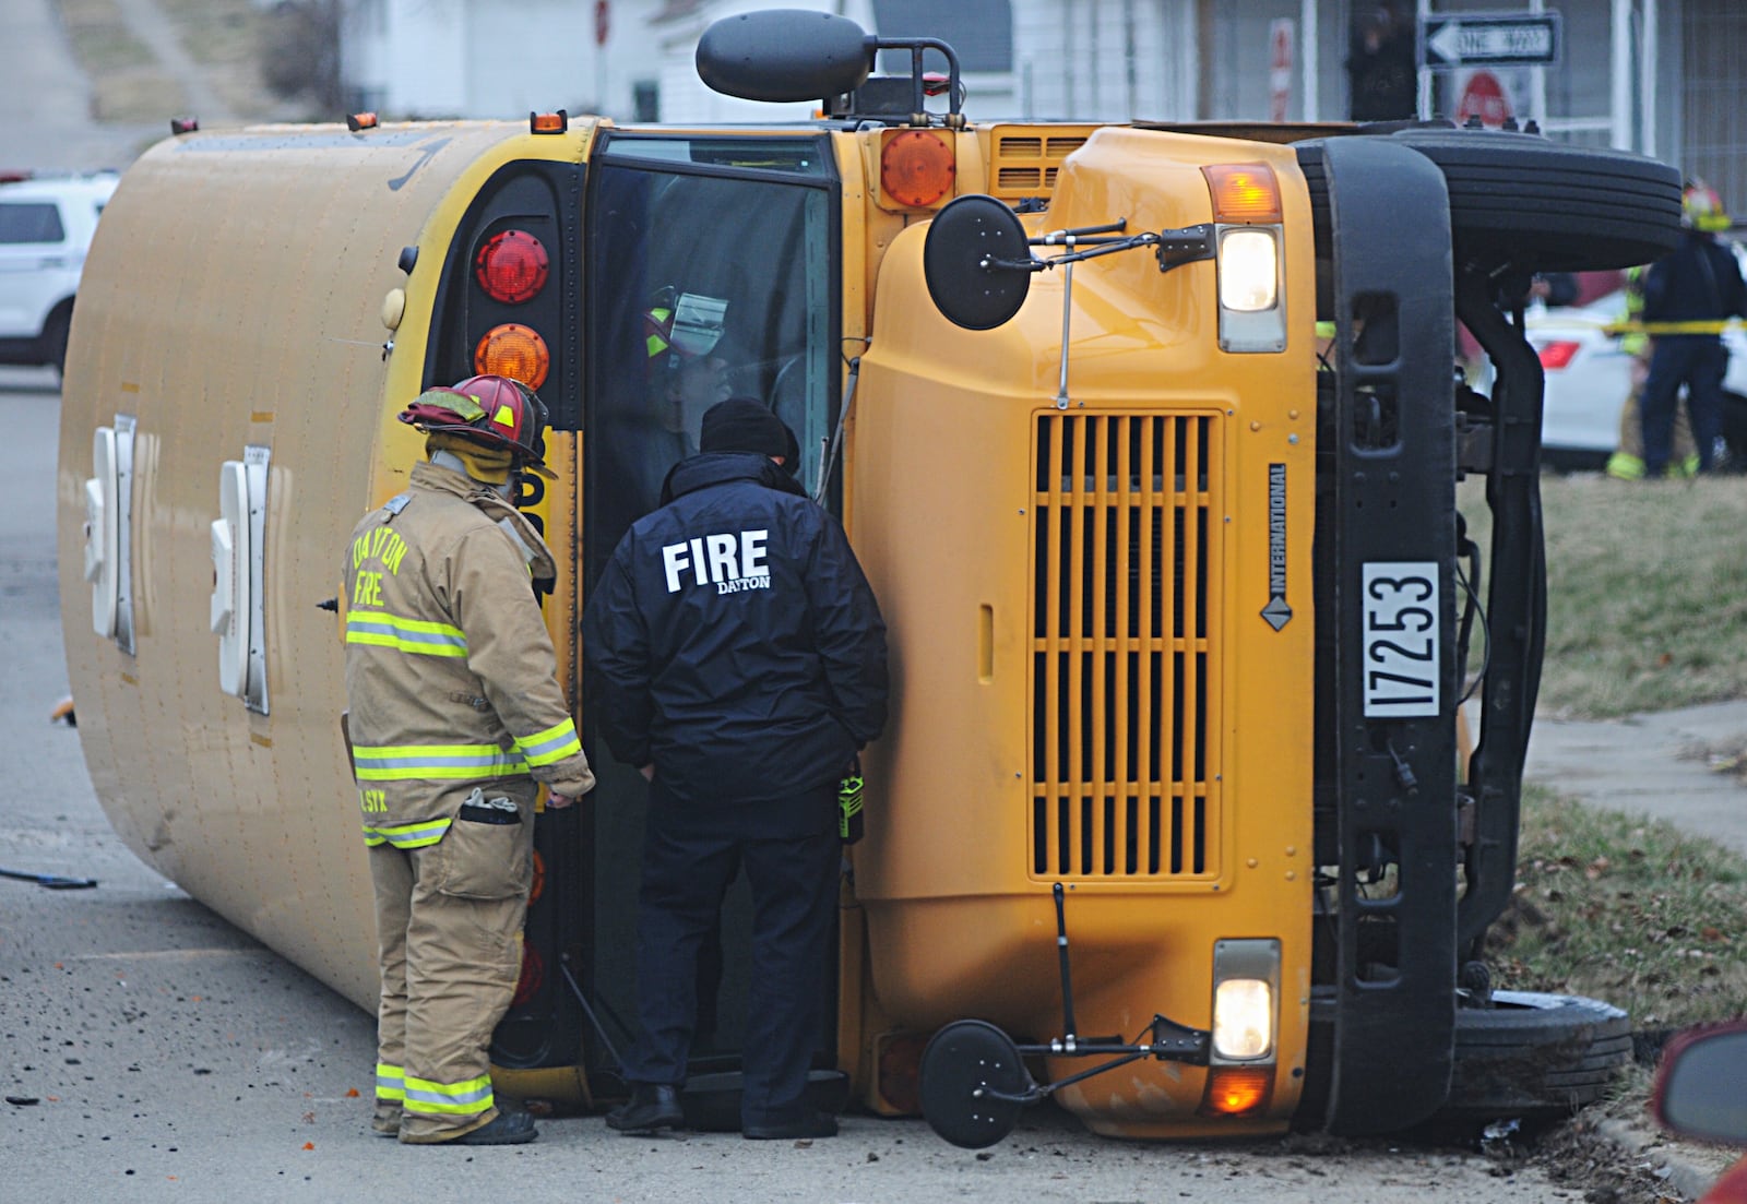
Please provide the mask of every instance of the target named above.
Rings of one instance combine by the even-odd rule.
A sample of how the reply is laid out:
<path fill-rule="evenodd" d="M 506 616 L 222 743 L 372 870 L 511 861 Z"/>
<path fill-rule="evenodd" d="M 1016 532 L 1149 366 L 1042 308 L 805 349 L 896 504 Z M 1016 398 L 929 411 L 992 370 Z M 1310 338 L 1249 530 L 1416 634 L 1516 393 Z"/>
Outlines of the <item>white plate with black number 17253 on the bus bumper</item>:
<path fill-rule="evenodd" d="M 1438 566 L 1364 566 L 1364 716 L 1438 713 Z"/>

